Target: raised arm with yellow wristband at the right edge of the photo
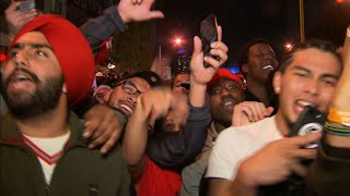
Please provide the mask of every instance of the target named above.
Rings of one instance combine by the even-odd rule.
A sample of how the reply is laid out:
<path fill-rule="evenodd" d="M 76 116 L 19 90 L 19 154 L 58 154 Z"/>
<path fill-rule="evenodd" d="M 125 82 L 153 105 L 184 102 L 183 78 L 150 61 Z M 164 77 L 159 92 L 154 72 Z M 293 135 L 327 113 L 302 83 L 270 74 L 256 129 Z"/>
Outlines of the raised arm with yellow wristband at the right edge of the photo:
<path fill-rule="evenodd" d="M 350 27 L 342 50 L 338 82 L 318 155 L 306 177 L 306 195 L 349 195 L 350 173 Z"/>

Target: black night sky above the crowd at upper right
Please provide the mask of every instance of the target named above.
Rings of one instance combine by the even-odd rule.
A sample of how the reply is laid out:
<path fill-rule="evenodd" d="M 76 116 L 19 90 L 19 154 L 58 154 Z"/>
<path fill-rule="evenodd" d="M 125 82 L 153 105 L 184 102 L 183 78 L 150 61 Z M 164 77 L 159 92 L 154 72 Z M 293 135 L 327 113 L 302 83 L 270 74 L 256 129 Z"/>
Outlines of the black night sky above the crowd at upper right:
<path fill-rule="evenodd" d="M 159 40 L 170 47 L 176 35 L 191 42 L 192 36 L 198 35 L 200 21 L 209 13 L 217 14 L 223 27 L 231 60 L 253 38 L 270 40 L 278 54 L 287 41 L 300 40 L 299 0 L 165 0 L 161 7 L 166 19 L 158 22 Z M 342 44 L 350 21 L 350 3 L 304 0 L 304 11 L 306 39 L 318 37 Z"/>

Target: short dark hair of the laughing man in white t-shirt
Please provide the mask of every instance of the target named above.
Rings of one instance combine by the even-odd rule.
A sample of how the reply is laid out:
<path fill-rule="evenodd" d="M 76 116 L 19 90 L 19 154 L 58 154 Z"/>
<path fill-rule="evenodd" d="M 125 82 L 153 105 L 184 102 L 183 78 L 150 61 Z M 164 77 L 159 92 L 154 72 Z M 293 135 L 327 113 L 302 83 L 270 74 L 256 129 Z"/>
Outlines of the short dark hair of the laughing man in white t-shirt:
<path fill-rule="evenodd" d="M 318 49 L 324 52 L 329 52 L 336 57 L 338 60 L 341 70 L 342 70 L 342 59 L 340 53 L 337 52 L 337 47 L 329 40 L 323 40 L 323 39 L 310 39 L 306 42 L 296 45 L 292 51 L 287 53 L 284 60 L 282 61 L 282 64 L 279 68 L 279 72 L 284 73 L 284 71 L 288 69 L 288 66 L 292 63 L 294 54 L 298 51 L 306 50 L 310 48 Z"/>

